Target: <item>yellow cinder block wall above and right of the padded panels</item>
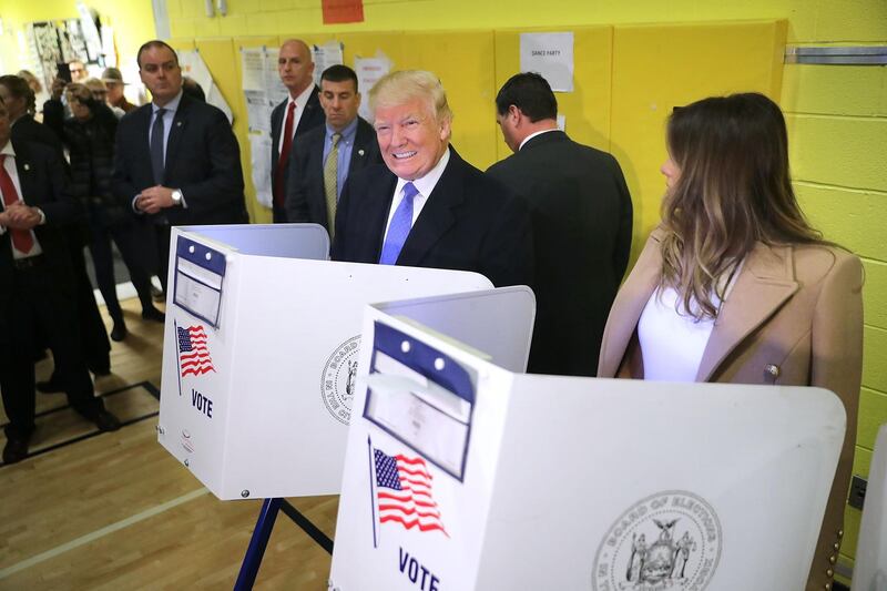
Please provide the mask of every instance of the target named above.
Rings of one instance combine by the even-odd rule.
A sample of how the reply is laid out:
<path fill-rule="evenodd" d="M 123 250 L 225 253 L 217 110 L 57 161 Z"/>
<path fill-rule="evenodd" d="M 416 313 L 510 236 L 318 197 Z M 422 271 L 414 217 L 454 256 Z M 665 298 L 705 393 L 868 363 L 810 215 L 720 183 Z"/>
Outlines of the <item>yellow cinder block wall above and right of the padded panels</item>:
<path fill-rule="evenodd" d="M 133 59 L 141 41 L 153 35 L 149 0 L 93 0 L 91 6 L 116 28 L 122 59 Z M 172 34 L 180 40 L 787 19 L 789 44 L 887 44 L 884 0 L 552 0 L 543 7 L 531 0 L 367 1 L 365 22 L 332 27 L 322 22 L 319 0 L 228 0 L 227 16 L 214 18 L 205 17 L 197 0 L 167 0 L 166 8 Z M 72 0 L 0 0 L 3 63 L 10 70 L 17 67 L 12 40 L 17 26 L 74 14 Z M 867 475 L 875 432 L 887 422 L 887 68 L 789 64 L 782 88 L 802 205 L 826 237 L 853 249 L 865 263 L 865 369 L 855 471 Z M 848 509 L 842 548 L 842 561 L 848 565 L 858 522 L 859 512 Z"/>

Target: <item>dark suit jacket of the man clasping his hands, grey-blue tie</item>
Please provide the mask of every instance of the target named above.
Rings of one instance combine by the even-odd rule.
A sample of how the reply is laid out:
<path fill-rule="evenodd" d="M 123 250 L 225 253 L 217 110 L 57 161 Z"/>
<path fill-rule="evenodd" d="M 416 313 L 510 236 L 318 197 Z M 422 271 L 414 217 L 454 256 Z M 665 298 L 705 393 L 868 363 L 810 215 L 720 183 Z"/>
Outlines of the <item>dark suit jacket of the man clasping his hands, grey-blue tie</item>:
<path fill-rule="evenodd" d="M 171 225 L 241 224 L 249 221 L 243 193 L 237 139 L 224 113 L 183 94 L 166 144 L 164 179 L 151 169 L 149 128 L 151 104 L 120 120 L 112 191 L 131 208 L 144 188 L 162 184 L 180 188 L 187 207 L 167 207 L 155 214 Z"/>

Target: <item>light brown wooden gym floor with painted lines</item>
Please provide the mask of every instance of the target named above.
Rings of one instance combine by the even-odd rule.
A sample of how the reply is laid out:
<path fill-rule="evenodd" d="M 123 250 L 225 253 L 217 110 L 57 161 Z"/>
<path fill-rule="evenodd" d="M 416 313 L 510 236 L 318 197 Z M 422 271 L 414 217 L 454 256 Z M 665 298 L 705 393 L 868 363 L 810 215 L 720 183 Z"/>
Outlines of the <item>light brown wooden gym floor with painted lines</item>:
<path fill-rule="evenodd" d="M 123 307 L 130 335 L 95 389 L 124 427 L 95 434 L 63 395 L 38 394 L 32 457 L 0 467 L 0 590 L 234 587 L 261 501 L 217 500 L 157 444 L 163 326 Z M 38 379 L 50 371 L 41 361 Z M 333 538 L 337 497 L 289 501 Z M 281 513 L 255 588 L 320 591 L 328 573 L 329 554 Z"/>

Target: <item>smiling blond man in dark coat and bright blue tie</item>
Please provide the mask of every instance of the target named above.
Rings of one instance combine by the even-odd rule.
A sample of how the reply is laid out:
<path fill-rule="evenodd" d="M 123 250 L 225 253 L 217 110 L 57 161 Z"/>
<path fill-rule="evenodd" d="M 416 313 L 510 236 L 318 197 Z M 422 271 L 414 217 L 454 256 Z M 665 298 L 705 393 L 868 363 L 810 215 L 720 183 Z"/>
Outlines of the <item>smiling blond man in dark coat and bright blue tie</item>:
<path fill-rule="evenodd" d="M 473 271 L 530 284 L 527 206 L 450 147 L 452 112 L 430 72 L 398 71 L 369 92 L 384 164 L 349 176 L 333 258 Z"/>

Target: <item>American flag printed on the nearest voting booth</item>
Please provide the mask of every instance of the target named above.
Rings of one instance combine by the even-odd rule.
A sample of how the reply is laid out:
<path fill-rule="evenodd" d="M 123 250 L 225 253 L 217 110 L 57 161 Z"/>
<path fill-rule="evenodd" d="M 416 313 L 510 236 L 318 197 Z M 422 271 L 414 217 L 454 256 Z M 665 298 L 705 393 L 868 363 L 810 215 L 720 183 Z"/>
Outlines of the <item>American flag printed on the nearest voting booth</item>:
<path fill-rule="evenodd" d="M 374 449 L 379 523 L 392 521 L 419 531 L 447 530 L 431 495 L 431 473 L 422 458 L 388 456 Z"/>

